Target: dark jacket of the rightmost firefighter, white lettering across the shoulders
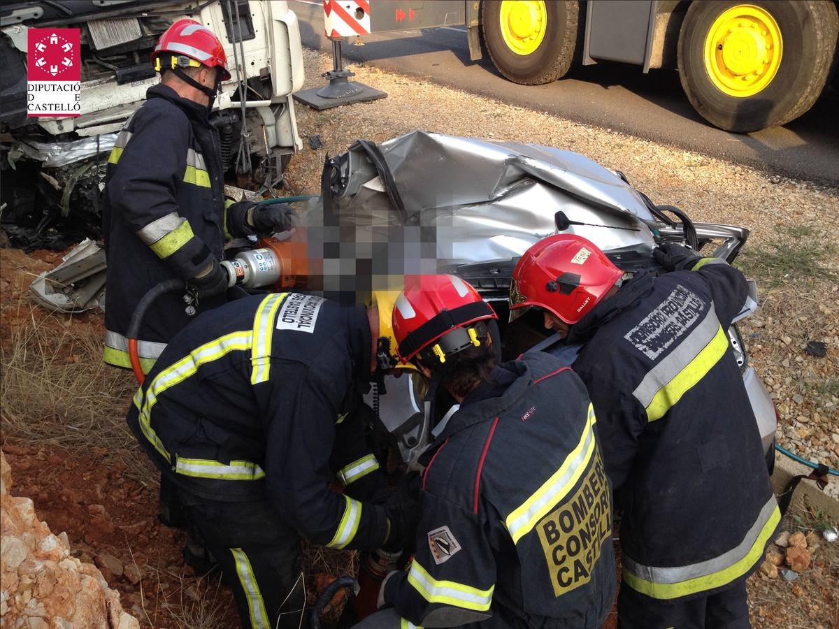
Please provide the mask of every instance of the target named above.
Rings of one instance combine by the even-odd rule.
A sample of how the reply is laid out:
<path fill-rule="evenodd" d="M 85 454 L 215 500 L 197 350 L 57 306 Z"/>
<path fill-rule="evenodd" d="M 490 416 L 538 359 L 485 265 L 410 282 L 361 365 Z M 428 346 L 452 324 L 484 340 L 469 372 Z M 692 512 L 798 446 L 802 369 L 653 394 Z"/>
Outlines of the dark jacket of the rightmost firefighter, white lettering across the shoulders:
<path fill-rule="evenodd" d="M 737 269 L 643 273 L 571 328 L 622 507 L 623 580 L 656 599 L 708 595 L 763 559 L 780 514 L 727 337 Z"/>

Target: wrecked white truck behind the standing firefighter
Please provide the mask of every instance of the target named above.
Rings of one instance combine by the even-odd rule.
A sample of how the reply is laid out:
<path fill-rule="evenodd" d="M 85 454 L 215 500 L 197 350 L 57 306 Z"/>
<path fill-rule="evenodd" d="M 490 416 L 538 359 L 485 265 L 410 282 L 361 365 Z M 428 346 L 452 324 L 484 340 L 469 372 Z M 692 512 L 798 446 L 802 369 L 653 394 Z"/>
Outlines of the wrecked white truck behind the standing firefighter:
<path fill-rule="evenodd" d="M 278 185 L 291 154 L 302 148 L 291 94 L 303 86 L 303 55 L 287 2 L 6 2 L 0 7 L 0 201 L 13 244 L 63 249 L 101 236 L 108 153 L 157 83 L 150 55 L 180 18 L 206 25 L 227 54 L 232 78 L 221 85 L 210 118 L 226 180 L 242 188 Z M 32 28 L 80 29 L 80 116 L 29 116 Z"/>

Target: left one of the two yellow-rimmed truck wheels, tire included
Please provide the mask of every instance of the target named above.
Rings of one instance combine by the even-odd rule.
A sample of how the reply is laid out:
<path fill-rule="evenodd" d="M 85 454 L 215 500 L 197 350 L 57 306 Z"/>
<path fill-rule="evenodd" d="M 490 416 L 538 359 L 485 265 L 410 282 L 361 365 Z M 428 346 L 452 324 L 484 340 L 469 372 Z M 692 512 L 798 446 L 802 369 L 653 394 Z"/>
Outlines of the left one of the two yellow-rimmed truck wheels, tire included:
<path fill-rule="evenodd" d="M 514 83 L 537 86 L 564 76 L 582 50 L 577 0 L 484 0 L 483 44 Z"/>

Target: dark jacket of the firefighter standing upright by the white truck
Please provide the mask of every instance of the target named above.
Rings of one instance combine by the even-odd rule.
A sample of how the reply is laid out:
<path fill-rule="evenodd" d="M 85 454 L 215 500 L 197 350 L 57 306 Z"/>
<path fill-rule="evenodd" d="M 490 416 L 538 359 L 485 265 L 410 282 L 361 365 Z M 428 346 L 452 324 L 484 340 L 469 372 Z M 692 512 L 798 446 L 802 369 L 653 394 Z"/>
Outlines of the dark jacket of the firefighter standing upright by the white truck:
<path fill-rule="evenodd" d="M 125 335 L 143 295 L 164 279 L 195 277 L 221 259 L 225 242 L 221 148 L 206 107 L 164 85 L 146 96 L 117 135 L 104 192 L 103 357 L 123 367 L 131 366 Z M 222 303 L 223 295 L 202 299 L 198 309 Z M 188 321 L 182 294 L 157 299 L 139 330 L 143 371 Z"/>

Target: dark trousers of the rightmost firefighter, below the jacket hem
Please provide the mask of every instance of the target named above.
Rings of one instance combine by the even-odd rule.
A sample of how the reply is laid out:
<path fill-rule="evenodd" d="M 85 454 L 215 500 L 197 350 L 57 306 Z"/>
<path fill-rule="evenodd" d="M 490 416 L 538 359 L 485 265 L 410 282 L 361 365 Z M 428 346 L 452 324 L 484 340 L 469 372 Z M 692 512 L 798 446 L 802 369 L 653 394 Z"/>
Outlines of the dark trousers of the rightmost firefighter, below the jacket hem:
<path fill-rule="evenodd" d="M 746 581 L 689 600 L 659 600 L 621 584 L 618 629 L 749 629 Z"/>

